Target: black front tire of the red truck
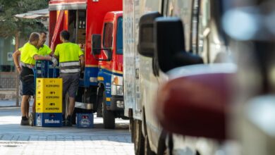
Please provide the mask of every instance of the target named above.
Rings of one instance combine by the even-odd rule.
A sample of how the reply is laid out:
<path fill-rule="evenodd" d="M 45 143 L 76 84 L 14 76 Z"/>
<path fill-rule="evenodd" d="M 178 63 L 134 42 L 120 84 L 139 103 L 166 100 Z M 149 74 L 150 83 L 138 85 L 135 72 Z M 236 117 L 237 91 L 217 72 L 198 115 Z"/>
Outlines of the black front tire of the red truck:
<path fill-rule="evenodd" d="M 106 94 L 103 92 L 102 97 L 103 106 L 103 124 L 105 129 L 114 129 L 116 127 L 115 116 L 113 111 L 109 111 L 106 108 Z"/>

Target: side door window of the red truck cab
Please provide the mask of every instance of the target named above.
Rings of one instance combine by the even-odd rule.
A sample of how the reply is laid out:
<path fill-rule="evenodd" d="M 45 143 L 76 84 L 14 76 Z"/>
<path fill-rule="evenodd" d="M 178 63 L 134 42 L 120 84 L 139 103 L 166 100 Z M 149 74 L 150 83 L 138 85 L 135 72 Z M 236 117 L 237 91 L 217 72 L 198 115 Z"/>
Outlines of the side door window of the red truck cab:
<path fill-rule="evenodd" d="M 104 48 L 111 48 L 112 44 L 113 44 L 113 23 L 105 23 L 103 46 Z"/>

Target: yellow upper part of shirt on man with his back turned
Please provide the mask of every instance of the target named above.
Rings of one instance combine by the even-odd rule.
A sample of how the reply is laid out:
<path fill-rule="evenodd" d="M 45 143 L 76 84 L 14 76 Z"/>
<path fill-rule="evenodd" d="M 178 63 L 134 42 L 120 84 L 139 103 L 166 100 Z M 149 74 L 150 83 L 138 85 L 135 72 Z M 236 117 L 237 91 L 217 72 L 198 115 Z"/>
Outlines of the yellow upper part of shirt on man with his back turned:
<path fill-rule="evenodd" d="M 54 51 L 55 56 L 59 56 L 59 62 L 79 61 L 79 56 L 83 55 L 80 46 L 71 42 L 58 44 Z"/>

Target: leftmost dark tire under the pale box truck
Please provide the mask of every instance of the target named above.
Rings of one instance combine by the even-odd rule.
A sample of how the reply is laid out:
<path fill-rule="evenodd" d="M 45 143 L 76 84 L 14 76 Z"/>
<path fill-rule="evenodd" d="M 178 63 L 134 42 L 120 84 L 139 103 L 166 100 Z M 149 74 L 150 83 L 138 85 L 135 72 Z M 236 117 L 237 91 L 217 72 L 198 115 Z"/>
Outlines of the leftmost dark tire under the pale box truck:
<path fill-rule="evenodd" d="M 145 138 L 142 134 L 142 122 L 141 120 L 134 120 L 135 129 L 134 129 L 134 147 L 135 147 L 135 155 L 143 155 L 145 153 Z"/>

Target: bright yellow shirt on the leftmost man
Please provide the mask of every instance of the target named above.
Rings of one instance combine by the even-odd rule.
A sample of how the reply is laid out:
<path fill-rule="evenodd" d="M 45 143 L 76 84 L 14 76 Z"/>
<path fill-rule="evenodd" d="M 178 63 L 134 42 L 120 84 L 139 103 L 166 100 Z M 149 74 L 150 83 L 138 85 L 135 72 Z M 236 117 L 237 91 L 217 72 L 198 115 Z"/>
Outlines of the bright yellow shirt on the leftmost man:
<path fill-rule="evenodd" d="M 19 49 L 19 51 L 21 52 L 21 62 L 29 65 L 35 65 L 35 59 L 33 56 L 38 55 L 38 49 L 35 46 L 30 44 L 30 42 L 27 42 Z"/>

